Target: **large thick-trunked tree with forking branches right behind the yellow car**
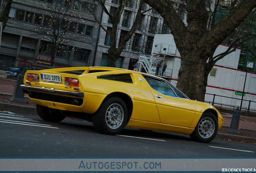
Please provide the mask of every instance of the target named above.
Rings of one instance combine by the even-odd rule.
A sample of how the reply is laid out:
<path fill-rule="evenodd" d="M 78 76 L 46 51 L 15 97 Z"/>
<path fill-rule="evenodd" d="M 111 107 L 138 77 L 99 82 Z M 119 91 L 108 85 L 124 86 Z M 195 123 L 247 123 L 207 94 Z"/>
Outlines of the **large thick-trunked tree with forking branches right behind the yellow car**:
<path fill-rule="evenodd" d="M 173 34 L 181 55 L 177 87 L 191 99 L 204 101 L 208 74 L 220 57 L 214 57 L 216 48 L 256 7 L 256 0 L 144 0 L 163 17 Z M 175 10 L 180 3 L 186 12 L 184 22 Z M 209 22 L 218 4 L 230 2 L 228 14 L 219 22 Z M 216 4 L 215 10 L 211 4 Z M 213 19 L 213 18 L 212 18 Z"/>

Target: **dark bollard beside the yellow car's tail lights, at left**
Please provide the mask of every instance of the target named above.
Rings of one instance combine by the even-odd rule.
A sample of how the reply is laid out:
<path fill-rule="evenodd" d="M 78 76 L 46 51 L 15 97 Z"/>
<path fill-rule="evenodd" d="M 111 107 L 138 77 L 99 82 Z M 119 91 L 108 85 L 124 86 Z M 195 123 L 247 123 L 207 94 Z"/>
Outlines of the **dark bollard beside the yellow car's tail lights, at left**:
<path fill-rule="evenodd" d="M 19 74 L 17 76 L 14 92 L 13 92 L 12 98 L 10 98 L 11 101 L 26 103 L 24 100 L 23 89 L 21 88 L 21 84 L 23 84 L 23 79 L 24 79 L 24 74 Z"/>

